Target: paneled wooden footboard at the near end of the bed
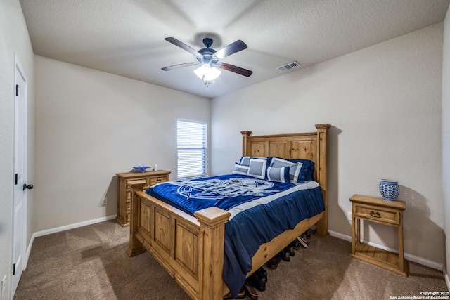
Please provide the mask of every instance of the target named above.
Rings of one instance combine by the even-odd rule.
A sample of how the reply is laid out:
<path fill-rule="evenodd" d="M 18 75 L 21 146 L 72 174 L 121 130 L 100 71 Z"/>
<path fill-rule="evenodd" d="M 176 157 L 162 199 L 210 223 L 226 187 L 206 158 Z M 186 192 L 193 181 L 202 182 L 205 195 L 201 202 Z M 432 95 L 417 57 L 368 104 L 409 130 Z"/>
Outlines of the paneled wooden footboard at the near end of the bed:
<path fill-rule="evenodd" d="M 223 299 L 225 223 L 230 213 L 210 207 L 195 212 L 194 218 L 144 193 L 145 181 L 129 185 L 129 256 L 147 249 L 192 299 Z"/>

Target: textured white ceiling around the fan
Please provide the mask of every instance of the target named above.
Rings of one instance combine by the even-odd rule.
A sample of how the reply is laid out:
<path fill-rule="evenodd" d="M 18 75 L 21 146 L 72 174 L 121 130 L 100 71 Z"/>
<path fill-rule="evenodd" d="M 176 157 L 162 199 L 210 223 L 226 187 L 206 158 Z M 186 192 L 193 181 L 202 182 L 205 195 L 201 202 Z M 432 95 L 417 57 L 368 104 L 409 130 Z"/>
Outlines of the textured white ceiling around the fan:
<path fill-rule="evenodd" d="M 302 68 L 444 21 L 449 0 L 20 0 L 34 53 L 207 98 L 280 76 L 277 67 Z M 205 86 L 195 61 L 165 41 L 196 50 L 204 33 L 212 48 L 241 39 L 248 48 L 224 63 L 252 70 L 222 71 Z M 295 69 L 298 70 L 298 69 Z M 291 70 L 289 72 L 295 72 Z"/>

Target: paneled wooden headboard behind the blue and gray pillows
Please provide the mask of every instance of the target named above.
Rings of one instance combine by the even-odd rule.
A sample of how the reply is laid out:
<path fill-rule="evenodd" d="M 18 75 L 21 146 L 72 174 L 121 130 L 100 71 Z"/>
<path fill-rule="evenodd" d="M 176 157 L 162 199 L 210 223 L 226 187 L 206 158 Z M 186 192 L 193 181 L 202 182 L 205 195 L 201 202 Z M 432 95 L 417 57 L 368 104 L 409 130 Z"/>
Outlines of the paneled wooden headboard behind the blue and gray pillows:
<path fill-rule="evenodd" d="M 317 223 L 317 235 L 328 237 L 327 143 L 330 124 L 316 124 L 317 131 L 307 133 L 251 136 L 252 131 L 240 131 L 245 156 L 285 159 L 310 159 L 314 162 L 314 180 L 322 188 L 325 216 Z"/>

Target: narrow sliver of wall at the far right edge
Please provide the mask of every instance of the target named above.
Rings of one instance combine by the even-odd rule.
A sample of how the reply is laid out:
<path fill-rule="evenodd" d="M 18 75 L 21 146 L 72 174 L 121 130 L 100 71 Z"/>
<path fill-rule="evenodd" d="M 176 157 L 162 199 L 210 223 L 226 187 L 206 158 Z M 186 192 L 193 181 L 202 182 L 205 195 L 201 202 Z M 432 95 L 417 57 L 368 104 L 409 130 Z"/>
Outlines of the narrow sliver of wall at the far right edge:
<path fill-rule="evenodd" d="M 442 183 L 444 188 L 444 233 L 446 280 L 450 289 L 450 8 L 444 22 L 442 63 Z"/>

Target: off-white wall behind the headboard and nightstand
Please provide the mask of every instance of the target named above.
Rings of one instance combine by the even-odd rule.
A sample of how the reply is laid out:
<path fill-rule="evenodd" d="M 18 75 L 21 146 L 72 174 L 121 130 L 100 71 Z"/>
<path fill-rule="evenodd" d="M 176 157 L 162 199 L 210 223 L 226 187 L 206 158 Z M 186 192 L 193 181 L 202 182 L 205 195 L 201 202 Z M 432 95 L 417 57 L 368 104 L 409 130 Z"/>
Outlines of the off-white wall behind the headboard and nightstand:
<path fill-rule="evenodd" d="M 355 193 L 399 181 L 405 252 L 444 262 L 441 98 L 443 23 L 214 98 L 212 174 L 232 170 L 240 131 L 315 131 L 329 123 L 329 229 L 351 235 Z M 302 63 L 302 53 L 298 53 Z M 397 249 L 394 228 L 364 238 Z"/>

